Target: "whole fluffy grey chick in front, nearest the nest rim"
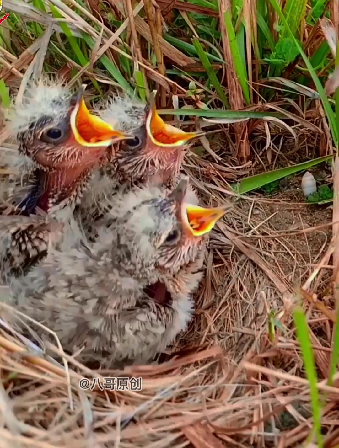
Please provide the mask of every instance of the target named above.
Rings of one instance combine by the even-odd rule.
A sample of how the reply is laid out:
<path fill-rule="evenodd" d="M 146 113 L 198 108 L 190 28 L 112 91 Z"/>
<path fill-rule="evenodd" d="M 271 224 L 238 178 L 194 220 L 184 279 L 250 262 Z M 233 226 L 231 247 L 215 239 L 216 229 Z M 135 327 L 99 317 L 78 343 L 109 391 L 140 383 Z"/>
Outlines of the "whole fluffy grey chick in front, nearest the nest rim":
<path fill-rule="evenodd" d="M 158 188 L 117 194 L 114 225 L 102 226 L 95 243 L 49 250 L 26 276 L 11 279 L 6 297 L 55 332 L 65 350 L 83 349 L 83 362 L 150 362 L 187 327 L 201 278 L 190 263 L 228 208 L 196 202 L 185 179 L 170 194 Z M 1 317 L 14 325 L 11 313 Z M 41 337 L 41 327 L 29 327 Z"/>

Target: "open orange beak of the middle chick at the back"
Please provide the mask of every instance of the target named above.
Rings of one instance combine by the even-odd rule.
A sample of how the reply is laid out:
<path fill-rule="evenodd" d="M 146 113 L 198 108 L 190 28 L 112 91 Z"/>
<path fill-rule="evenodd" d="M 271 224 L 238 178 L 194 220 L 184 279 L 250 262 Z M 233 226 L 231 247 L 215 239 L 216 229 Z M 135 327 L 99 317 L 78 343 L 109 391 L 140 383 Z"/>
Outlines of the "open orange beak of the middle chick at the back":
<path fill-rule="evenodd" d="M 154 93 L 150 95 L 150 108 L 146 120 L 146 129 L 152 142 L 162 147 L 181 146 L 192 138 L 204 135 L 202 132 L 184 132 L 172 125 L 166 125 L 156 112 Z"/>

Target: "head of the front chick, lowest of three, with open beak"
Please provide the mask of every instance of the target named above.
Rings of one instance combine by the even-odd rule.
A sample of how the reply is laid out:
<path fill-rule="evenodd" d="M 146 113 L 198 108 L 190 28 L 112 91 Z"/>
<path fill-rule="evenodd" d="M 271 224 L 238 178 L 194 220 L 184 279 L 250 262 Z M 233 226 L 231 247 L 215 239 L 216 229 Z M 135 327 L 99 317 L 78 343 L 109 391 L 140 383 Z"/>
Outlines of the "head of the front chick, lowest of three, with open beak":
<path fill-rule="evenodd" d="M 122 196 L 113 215 L 118 222 L 119 250 L 126 247 L 128 257 L 135 254 L 135 263 L 129 263 L 135 275 L 159 279 L 175 275 L 196 260 L 209 232 L 230 208 L 230 204 L 204 208 L 197 202 L 187 179 L 179 181 L 170 194 L 152 187 Z"/>

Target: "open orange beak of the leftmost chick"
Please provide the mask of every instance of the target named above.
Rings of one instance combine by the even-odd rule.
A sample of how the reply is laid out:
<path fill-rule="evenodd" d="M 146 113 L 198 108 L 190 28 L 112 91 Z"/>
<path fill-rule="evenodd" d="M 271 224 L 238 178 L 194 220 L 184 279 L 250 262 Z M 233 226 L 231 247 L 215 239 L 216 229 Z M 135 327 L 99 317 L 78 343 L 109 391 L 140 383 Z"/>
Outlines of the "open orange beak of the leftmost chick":
<path fill-rule="evenodd" d="M 133 138 L 131 135 L 115 131 L 111 125 L 98 116 L 92 115 L 83 99 L 83 90 L 78 91 L 74 109 L 70 115 L 70 125 L 75 140 L 81 146 L 110 146 L 119 140 Z"/>

